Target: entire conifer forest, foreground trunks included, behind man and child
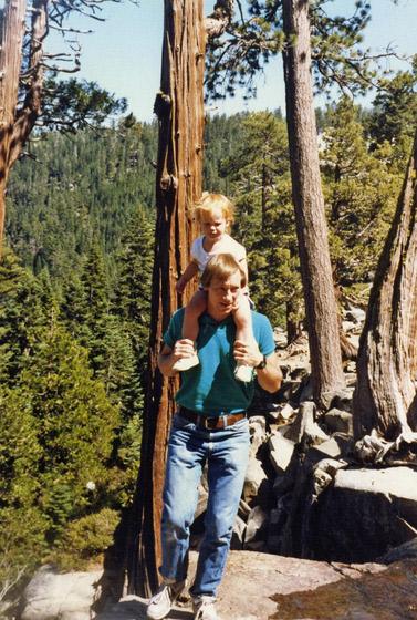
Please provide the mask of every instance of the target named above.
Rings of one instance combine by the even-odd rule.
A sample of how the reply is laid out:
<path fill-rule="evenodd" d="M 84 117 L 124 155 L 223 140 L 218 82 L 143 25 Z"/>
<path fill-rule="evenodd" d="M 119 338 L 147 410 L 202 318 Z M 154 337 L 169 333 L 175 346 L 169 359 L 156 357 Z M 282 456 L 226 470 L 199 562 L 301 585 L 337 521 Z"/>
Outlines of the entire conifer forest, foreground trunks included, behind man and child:
<path fill-rule="evenodd" d="M 173 413 L 166 403 L 177 381 L 160 380 L 155 352 L 169 314 L 189 294 L 179 299 L 174 287 L 196 236 L 189 213 L 202 190 L 236 205 L 231 234 L 247 248 L 257 310 L 289 343 L 307 332 L 319 411 L 343 388 L 340 308 L 348 300 L 368 309 L 357 352 L 355 438 L 375 428 L 384 442 L 403 438 L 413 453 L 417 55 L 383 71 L 361 49 L 377 9 L 357 0 L 354 18 L 332 18 L 327 3 L 218 0 L 202 17 L 202 1 L 165 0 L 161 49 L 174 49 L 179 37 L 170 11 L 176 4 L 183 24 L 196 11 L 181 37 L 190 37 L 190 49 L 199 49 L 205 62 L 195 63 L 187 82 L 180 71 L 190 63 L 189 50 L 184 45 L 177 64 L 165 50 L 155 117 L 142 122 L 100 85 L 41 68 L 37 42 L 44 27 L 37 19 L 63 27 L 94 2 L 6 0 L 0 601 L 43 564 L 75 570 L 102 562 L 121 519 L 128 524 L 132 591 L 148 593 L 155 585 L 159 542 L 149 524 L 160 509 L 164 415 Z M 18 50 L 10 32 L 20 4 L 29 17 Z M 300 45 L 311 54 L 310 94 L 302 92 Z M 204 114 L 204 96 L 216 100 L 237 89 L 254 96 L 257 75 L 277 54 L 283 55 L 286 110 Z M 330 93 L 320 107 L 312 99 L 317 90 Z M 367 99 L 359 103 L 356 95 Z M 180 159 L 176 131 L 184 144 L 201 143 L 194 162 Z M 309 180 L 315 161 L 317 174 Z M 180 176 L 183 168 L 192 174 Z M 321 213 L 323 221 L 315 219 Z M 324 241 L 314 240 L 311 229 L 320 229 Z M 174 247 L 177 238 L 181 251 Z M 329 259 L 320 269 L 317 256 L 320 265 Z M 330 313 L 321 316 L 329 286 L 323 312 Z M 336 335 L 327 333 L 333 322 Z M 387 360 L 394 378 L 384 373 Z M 385 395 L 393 383 L 399 404 Z M 133 545 L 135 527 L 147 538 Z"/>

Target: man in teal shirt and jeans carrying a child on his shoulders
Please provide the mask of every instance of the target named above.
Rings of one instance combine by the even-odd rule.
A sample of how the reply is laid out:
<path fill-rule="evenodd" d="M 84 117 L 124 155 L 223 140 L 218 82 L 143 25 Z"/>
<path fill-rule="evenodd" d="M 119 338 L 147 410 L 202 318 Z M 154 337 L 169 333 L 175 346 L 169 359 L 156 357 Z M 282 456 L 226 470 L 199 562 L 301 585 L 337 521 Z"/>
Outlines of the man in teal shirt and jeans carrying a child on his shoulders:
<path fill-rule="evenodd" d="M 252 312 L 256 342 L 234 341 L 232 312 L 246 286 L 246 273 L 228 254 L 207 265 L 201 286 L 207 291 L 207 312 L 199 322 L 200 364 L 181 373 L 168 444 L 161 523 L 163 585 L 150 599 L 147 617 L 165 618 L 185 587 L 189 528 L 198 499 L 201 472 L 208 465 L 208 505 L 205 536 L 196 577 L 190 589 L 196 620 L 217 620 L 215 608 L 230 547 L 249 457 L 246 411 L 253 396 L 253 381 L 237 381 L 237 362 L 256 369 L 259 384 L 275 392 L 282 374 L 274 360 L 274 342 L 267 317 Z M 194 354 L 190 340 L 181 339 L 184 309 L 171 318 L 164 335 L 158 365 L 174 374 L 173 365 Z"/>

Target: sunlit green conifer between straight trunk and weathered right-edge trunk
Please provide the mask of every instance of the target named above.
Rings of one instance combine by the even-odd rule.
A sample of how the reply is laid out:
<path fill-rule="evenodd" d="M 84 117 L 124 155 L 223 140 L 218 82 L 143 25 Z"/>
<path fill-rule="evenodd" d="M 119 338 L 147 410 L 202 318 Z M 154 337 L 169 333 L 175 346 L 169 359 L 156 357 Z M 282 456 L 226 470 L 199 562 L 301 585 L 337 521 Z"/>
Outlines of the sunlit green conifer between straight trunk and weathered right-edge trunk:
<path fill-rule="evenodd" d="M 403 182 L 388 144 L 368 151 L 358 110 L 343 97 L 330 111 L 322 169 L 331 254 L 344 286 L 368 281 L 382 251 Z"/>

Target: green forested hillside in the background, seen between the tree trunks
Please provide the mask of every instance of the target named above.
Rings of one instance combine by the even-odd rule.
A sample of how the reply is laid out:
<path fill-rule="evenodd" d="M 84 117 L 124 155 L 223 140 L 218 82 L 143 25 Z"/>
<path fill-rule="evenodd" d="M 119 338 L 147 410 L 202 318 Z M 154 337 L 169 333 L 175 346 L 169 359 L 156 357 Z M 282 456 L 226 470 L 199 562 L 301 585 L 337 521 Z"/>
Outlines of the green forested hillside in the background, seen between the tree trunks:
<path fill-rule="evenodd" d="M 320 112 L 334 276 L 351 294 L 372 280 L 410 147 L 408 107 L 389 125 L 398 89 L 387 93 L 373 112 L 347 99 Z M 4 579 L 45 559 L 88 561 L 132 498 L 156 143 L 157 125 L 129 116 L 100 132 L 51 133 L 12 172 L 0 270 Z M 295 335 L 303 310 L 284 120 L 209 118 L 205 151 L 205 188 L 237 204 L 251 296 Z"/>

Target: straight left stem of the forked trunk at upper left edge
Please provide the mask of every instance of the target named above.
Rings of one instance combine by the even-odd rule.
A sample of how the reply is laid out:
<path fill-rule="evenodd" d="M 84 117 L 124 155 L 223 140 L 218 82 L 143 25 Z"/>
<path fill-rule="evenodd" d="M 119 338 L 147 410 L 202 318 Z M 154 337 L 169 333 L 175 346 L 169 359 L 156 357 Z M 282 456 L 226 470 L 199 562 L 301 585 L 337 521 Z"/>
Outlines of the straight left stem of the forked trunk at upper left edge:
<path fill-rule="evenodd" d="M 4 192 L 9 154 L 18 105 L 25 0 L 7 0 L 1 20 L 0 41 L 0 254 L 4 231 Z"/>

